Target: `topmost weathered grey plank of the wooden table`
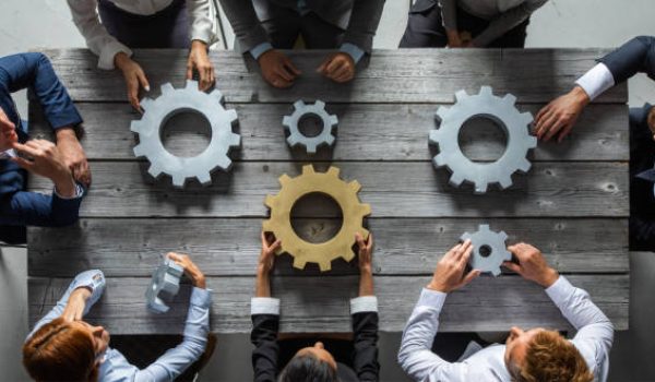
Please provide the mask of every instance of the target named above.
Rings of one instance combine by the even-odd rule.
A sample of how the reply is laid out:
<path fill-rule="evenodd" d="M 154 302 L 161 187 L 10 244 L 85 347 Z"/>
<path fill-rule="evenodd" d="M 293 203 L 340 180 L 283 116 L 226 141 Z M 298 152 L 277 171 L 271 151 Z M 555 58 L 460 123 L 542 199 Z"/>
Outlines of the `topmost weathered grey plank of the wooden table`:
<path fill-rule="evenodd" d="M 254 61 L 234 51 L 212 51 L 218 88 L 229 102 L 293 103 L 313 99 L 340 103 L 449 103 L 465 87 L 490 85 L 511 92 L 521 102 L 546 103 L 568 92 L 574 81 L 595 64 L 607 49 L 402 49 L 376 50 L 370 64 L 359 65 L 356 79 L 336 84 L 315 73 L 326 51 L 291 51 L 302 76 L 289 89 L 269 86 Z M 86 49 L 46 50 L 55 69 L 78 102 L 123 102 L 124 84 L 117 72 L 97 69 L 97 58 Z M 184 82 L 186 50 L 136 50 L 134 59 L 148 75 L 151 86 Z M 249 70 L 250 68 L 250 70 Z M 465 85 L 463 85 L 465 84 Z M 597 98 L 598 103 L 626 103 L 621 84 Z"/>

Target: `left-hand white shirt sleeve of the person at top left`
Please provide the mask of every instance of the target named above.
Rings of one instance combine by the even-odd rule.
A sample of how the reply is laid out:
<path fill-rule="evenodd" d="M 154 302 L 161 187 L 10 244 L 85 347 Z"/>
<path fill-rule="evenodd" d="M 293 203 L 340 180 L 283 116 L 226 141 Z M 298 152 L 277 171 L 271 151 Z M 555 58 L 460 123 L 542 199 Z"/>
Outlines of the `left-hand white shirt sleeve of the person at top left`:
<path fill-rule="evenodd" d="M 114 69 L 114 58 L 123 52 L 132 56 L 130 48 L 119 43 L 100 23 L 97 12 L 97 0 L 68 0 L 73 22 L 86 40 L 86 46 L 98 59 L 98 68 Z"/>

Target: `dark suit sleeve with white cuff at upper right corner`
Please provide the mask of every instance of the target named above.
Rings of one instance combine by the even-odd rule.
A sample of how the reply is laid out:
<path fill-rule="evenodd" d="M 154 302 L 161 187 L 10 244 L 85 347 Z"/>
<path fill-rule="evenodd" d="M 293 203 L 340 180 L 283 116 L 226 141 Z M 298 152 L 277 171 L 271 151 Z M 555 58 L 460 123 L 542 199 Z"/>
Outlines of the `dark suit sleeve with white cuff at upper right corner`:
<path fill-rule="evenodd" d="M 655 37 L 634 37 L 598 61 L 609 69 L 617 84 L 636 73 L 655 80 Z"/>

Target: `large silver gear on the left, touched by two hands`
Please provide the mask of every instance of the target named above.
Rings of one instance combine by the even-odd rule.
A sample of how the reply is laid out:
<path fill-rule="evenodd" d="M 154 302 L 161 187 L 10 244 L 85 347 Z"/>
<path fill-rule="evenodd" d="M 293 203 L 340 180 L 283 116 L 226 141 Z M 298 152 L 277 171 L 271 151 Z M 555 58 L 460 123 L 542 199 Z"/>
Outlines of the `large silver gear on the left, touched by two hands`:
<path fill-rule="evenodd" d="M 145 110 L 141 120 L 132 121 L 130 130 L 139 134 L 134 155 L 145 157 L 151 163 L 150 175 L 154 178 L 166 174 L 172 178 L 172 186 L 184 187 L 187 179 L 195 178 L 203 186 L 212 183 L 212 171 L 221 168 L 228 171 L 231 159 L 229 150 L 238 147 L 241 136 L 233 132 L 237 121 L 235 110 L 223 107 L 223 94 L 214 89 L 204 93 L 198 89 L 196 81 L 187 81 L 183 88 L 174 88 L 170 83 L 162 85 L 157 99 L 144 98 L 141 107 Z M 184 111 L 198 111 L 210 122 L 212 138 L 207 147 L 193 157 L 178 157 L 170 154 L 162 143 L 160 130 L 172 116 Z"/>

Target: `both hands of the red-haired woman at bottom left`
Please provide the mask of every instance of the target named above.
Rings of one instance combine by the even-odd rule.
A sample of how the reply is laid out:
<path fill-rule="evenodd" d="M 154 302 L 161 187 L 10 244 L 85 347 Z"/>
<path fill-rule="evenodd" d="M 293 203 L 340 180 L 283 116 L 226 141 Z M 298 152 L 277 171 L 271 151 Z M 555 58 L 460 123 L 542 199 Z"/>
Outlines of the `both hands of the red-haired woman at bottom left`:
<path fill-rule="evenodd" d="M 178 254 L 175 252 L 169 252 L 166 256 L 172 260 L 176 264 L 180 265 L 184 268 L 184 274 L 189 279 L 191 279 L 191 284 L 201 289 L 206 288 L 205 277 L 200 268 L 191 261 L 187 254 Z M 79 287 L 73 290 L 73 293 L 69 296 L 69 300 L 63 308 L 63 312 L 61 313 L 61 318 L 64 321 L 80 321 L 84 315 L 84 309 L 86 308 L 86 301 L 92 295 L 92 290 L 88 287 Z"/>

